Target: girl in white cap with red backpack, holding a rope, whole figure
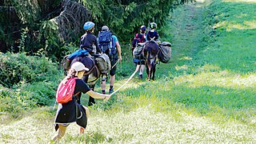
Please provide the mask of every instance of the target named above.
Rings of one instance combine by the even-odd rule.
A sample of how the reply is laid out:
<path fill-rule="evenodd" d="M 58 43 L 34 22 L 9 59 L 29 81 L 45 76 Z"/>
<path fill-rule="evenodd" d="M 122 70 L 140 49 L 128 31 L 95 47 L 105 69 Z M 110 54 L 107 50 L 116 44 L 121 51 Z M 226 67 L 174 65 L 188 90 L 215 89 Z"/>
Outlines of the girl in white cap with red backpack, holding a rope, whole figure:
<path fill-rule="evenodd" d="M 54 125 L 58 134 L 55 134 L 51 142 L 58 142 L 65 132 L 66 127 L 72 122 L 76 122 L 80 127 L 79 134 L 86 129 L 89 110 L 86 106 L 78 104 L 76 94 L 86 93 L 93 98 L 108 100 L 109 94 L 99 94 L 90 90 L 89 86 L 82 81 L 82 76 L 88 71 L 82 62 L 74 62 L 66 78 L 60 82 L 56 93 L 56 101 L 58 102 L 58 110 L 56 113 Z"/>

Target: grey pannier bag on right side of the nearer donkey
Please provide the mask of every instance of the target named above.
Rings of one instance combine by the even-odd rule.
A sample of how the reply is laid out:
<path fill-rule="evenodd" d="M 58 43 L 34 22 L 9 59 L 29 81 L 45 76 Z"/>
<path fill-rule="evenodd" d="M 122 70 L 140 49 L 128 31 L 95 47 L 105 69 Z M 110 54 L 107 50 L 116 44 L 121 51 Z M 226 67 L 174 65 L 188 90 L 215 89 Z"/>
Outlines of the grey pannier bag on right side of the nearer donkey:
<path fill-rule="evenodd" d="M 110 58 L 106 54 L 102 54 L 96 58 L 96 64 L 101 74 L 106 74 L 111 69 Z"/>

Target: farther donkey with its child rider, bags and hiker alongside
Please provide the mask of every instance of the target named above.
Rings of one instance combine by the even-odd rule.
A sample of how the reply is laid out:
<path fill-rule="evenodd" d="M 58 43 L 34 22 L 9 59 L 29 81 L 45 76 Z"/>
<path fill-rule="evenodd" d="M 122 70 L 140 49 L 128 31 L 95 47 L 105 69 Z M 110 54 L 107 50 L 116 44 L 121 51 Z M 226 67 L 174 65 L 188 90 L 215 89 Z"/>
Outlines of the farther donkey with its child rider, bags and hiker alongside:
<path fill-rule="evenodd" d="M 135 34 L 135 37 L 132 41 L 131 51 L 134 57 L 134 64 L 137 65 L 136 70 L 139 70 L 138 78 L 143 78 L 142 74 L 146 67 L 146 73 L 148 74 L 148 79 L 150 80 L 150 69 L 153 68 L 155 71 L 155 64 L 157 58 L 160 62 L 163 63 L 167 63 L 170 61 L 171 44 L 170 42 L 161 42 L 159 40 L 158 32 L 156 29 L 157 24 L 155 22 L 150 23 L 150 30 L 146 30 L 146 26 L 141 26 L 140 33 Z M 153 45 L 146 46 L 150 43 L 153 43 Z M 157 50 L 157 53 L 155 55 L 151 51 L 152 46 L 156 47 L 155 49 Z M 149 47 L 150 50 L 146 50 L 146 47 Z M 149 59 L 147 60 L 146 51 L 150 53 L 150 55 L 148 55 Z"/>

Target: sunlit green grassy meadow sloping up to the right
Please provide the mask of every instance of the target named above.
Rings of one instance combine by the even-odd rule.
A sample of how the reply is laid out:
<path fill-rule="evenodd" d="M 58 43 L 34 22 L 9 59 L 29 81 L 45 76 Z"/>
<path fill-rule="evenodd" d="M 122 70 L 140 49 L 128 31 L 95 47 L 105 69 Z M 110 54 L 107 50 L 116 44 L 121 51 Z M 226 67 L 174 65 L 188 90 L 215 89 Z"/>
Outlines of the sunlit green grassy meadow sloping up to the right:
<path fill-rule="evenodd" d="M 158 31 L 172 58 L 157 65 L 155 81 L 146 70 L 142 80 L 136 74 L 109 102 L 90 107 L 85 134 L 71 124 L 59 143 L 256 142 L 256 1 L 198 0 L 169 18 Z M 130 48 L 122 50 L 115 90 L 135 70 Z M 53 103 L 2 116 L 0 143 L 50 142 L 55 111 Z"/>

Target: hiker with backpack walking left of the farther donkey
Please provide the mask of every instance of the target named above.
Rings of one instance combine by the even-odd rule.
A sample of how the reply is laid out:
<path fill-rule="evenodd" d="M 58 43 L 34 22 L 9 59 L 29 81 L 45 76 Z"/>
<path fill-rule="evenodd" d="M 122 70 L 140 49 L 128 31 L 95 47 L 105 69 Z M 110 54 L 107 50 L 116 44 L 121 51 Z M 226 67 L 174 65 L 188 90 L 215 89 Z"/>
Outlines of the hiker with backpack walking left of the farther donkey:
<path fill-rule="evenodd" d="M 146 26 L 141 26 L 140 33 L 135 35 L 135 38 L 132 42 L 132 53 L 134 55 L 134 49 L 138 46 L 138 43 L 146 42 Z M 134 63 L 139 68 L 138 78 L 142 78 L 143 71 L 145 70 L 145 61 L 143 58 L 134 58 Z"/>

